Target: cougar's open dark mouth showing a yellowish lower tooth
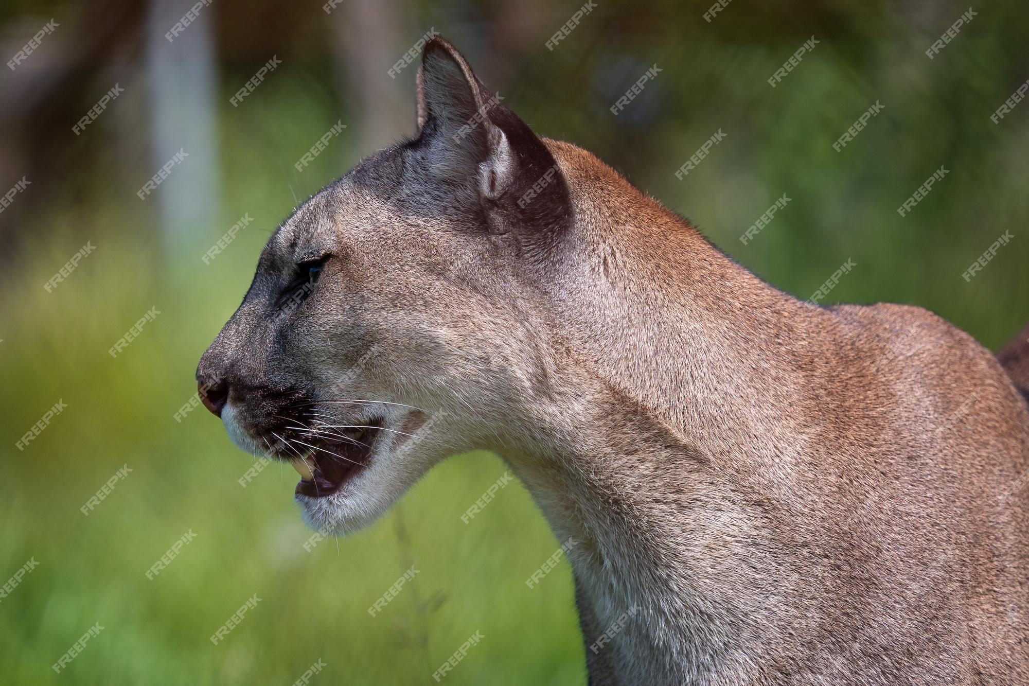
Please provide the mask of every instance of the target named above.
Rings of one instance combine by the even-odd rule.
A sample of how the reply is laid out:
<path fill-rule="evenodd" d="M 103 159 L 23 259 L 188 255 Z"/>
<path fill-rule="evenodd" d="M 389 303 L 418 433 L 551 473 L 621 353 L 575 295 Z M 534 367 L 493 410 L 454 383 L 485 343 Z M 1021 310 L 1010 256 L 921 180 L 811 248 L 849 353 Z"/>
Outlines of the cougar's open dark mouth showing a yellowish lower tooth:
<path fill-rule="evenodd" d="M 289 460 L 301 477 L 295 492 L 325 498 L 340 490 L 367 467 L 382 427 L 382 418 L 375 418 L 361 426 L 335 426 L 331 432 L 318 431 L 303 441 L 293 441 L 311 450 L 303 459 Z"/>

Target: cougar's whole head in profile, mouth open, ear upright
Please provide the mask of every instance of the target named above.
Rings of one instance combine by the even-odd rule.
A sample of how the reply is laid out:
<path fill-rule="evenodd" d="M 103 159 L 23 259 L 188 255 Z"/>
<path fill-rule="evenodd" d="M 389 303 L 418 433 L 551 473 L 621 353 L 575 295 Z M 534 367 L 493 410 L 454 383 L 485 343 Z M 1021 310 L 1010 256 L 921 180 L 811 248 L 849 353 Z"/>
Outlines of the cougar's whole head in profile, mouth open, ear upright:
<path fill-rule="evenodd" d="M 417 138 L 283 222 L 197 371 L 239 447 L 306 477 L 319 528 L 365 525 L 484 447 L 546 377 L 533 284 L 566 220 L 554 159 L 445 41 L 426 47 L 418 111 Z"/>

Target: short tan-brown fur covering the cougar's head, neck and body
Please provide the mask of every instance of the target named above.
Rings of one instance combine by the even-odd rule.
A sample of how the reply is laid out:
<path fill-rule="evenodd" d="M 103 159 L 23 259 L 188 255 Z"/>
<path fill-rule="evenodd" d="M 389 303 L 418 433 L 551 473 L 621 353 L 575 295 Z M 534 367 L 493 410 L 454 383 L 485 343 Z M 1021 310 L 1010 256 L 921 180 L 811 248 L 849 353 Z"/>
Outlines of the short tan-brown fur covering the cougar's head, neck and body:
<path fill-rule="evenodd" d="M 198 369 L 255 452 L 297 408 L 440 418 L 298 495 L 313 525 L 487 448 L 574 540 L 586 645 L 629 615 L 591 684 L 1029 683 L 1029 409 L 989 351 L 920 308 L 777 290 L 445 40 L 418 82 L 418 137 L 283 224 Z"/>

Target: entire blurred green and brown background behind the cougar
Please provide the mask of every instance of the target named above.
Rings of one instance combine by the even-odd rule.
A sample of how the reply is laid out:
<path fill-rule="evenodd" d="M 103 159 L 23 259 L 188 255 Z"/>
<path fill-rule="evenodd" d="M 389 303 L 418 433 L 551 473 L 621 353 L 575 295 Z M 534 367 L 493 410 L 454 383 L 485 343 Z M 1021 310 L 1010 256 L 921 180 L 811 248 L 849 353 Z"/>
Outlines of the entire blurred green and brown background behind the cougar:
<path fill-rule="evenodd" d="M 1029 78 L 1029 5 L 762 3 L 8 0 L 0 54 L 0 681 L 17 684 L 435 683 L 468 636 L 485 637 L 451 684 L 582 684 L 583 648 L 566 563 L 525 580 L 558 547 L 520 485 L 468 523 L 461 514 L 504 472 L 469 454 L 436 469 L 392 513 L 348 539 L 304 544 L 296 476 L 252 460 L 201 408 L 201 353 L 248 286 L 292 208 L 361 157 L 414 132 L 417 62 L 388 70 L 420 36 L 451 39 L 534 129 L 577 143 L 687 216 L 741 264 L 802 298 L 848 259 L 828 302 L 927 307 L 993 349 L 1029 314 L 1029 105 L 990 116 Z M 771 88 L 806 40 L 819 42 Z M 282 61 L 239 106 L 230 98 Z M 661 72 L 617 116 L 615 101 Z M 109 90 L 123 91 L 79 135 Z M 832 143 L 874 103 L 857 138 Z M 300 156 L 347 125 L 314 163 Z M 725 139 L 674 176 L 715 131 Z M 188 157 L 136 194 L 179 149 Z M 950 173 L 907 216 L 896 209 L 938 167 Z M 740 235 L 786 195 L 753 241 Z M 241 216 L 252 222 L 210 264 Z M 1014 239 L 970 280 L 1001 234 Z M 86 242 L 94 250 L 44 288 Z M 155 307 L 117 357 L 108 349 Z M 59 400 L 38 438 L 15 443 Z M 86 516 L 80 508 L 132 470 Z M 196 539 L 153 580 L 186 531 Z M 376 617 L 367 608 L 412 564 L 419 574 Z M 248 597 L 227 639 L 209 637 Z M 62 674 L 51 664 L 104 629 Z"/>

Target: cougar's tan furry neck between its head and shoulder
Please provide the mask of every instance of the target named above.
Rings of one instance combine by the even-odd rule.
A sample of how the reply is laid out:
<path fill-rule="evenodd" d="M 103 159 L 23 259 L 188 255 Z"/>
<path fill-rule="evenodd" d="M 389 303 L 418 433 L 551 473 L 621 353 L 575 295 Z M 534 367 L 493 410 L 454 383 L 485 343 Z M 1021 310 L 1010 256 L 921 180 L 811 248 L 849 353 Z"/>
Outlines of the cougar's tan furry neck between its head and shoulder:
<path fill-rule="evenodd" d="M 508 460 L 567 549 L 591 668 L 698 678 L 768 630 L 756 619 L 781 588 L 754 572 L 775 564 L 754 501 L 784 486 L 753 443 L 803 434 L 790 417 L 824 366 L 825 315 L 611 174 L 622 187 L 603 197 L 570 179 L 581 259 L 548 281 L 567 392 L 542 411 L 563 420 Z"/>

